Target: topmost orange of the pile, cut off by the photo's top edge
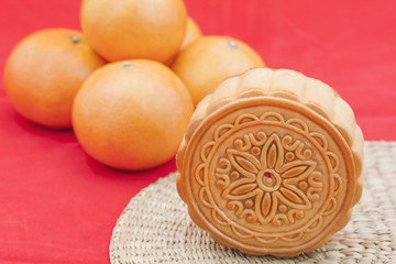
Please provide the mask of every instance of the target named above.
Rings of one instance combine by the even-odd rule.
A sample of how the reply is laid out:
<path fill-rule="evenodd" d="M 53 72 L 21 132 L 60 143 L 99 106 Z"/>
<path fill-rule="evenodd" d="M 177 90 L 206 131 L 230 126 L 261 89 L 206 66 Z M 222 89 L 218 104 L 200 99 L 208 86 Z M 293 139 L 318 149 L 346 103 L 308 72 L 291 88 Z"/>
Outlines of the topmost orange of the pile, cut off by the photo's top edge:
<path fill-rule="evenodd" d="M 80 16 L 89 43 L 110 62 L 167 62 L 179 50 L 187 26 L 183 0 L 84 0 Z"/>

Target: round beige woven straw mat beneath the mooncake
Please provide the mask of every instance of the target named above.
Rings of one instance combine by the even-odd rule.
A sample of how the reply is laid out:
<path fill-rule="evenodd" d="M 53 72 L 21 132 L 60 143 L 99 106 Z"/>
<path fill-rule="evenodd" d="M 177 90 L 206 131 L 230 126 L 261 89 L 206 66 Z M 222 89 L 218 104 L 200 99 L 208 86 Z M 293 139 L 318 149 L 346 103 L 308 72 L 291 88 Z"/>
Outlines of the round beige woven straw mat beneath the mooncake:
<path fill-rule="evenodd" d="M 134 197 L 119 218 L 110 260 L 121 263 L 396 263 L 396 142 L 366 142 L 364 193 L 350 223 L 321 249 L 255 257 L 213 242 L 188 217 L 175 174 Z"/>

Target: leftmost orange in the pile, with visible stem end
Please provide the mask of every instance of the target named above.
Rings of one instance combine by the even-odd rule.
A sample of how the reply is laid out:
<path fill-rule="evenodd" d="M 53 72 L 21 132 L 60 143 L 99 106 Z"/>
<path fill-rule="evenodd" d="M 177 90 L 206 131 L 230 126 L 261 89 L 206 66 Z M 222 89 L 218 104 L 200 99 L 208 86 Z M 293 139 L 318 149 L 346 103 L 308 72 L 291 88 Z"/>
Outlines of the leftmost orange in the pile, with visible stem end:
<path fill-rule="evenodd" d="M 78 31 L 37 31 L 10 54 L 6 90 L 15 110 L 26 119 L 50 128 L 69 128 L 76 92 L 105 63 Z"/>

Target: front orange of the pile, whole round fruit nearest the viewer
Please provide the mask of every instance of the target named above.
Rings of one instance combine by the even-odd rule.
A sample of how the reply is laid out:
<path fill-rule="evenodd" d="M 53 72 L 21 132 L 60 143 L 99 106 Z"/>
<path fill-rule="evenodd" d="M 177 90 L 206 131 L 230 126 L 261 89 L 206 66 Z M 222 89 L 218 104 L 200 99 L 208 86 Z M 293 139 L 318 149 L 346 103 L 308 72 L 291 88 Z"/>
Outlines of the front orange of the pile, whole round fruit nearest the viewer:
<path fill-rule="evenodd" d="M 172 158 L 194 105 L 165 65 L 117 62 L 95 72 L 73 109 L 78 141 L 94 158 L 116 168 L 146 169 Z"/>

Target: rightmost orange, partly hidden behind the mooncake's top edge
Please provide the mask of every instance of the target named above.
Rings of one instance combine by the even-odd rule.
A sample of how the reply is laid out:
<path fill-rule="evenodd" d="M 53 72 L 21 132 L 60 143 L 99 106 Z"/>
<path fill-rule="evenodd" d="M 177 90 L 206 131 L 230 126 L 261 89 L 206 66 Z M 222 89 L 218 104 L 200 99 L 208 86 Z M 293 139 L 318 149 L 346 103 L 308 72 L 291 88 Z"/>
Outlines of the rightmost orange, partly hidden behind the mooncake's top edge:
<path fill-rule="evenodd" d="M 172 69 L 187 85 L 197 105 L 223 79 L 264 66 L 260 55 L 239 40 L 204 36 L 177 56 Z"/>

